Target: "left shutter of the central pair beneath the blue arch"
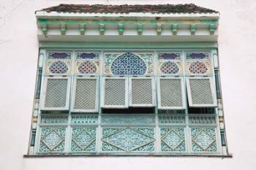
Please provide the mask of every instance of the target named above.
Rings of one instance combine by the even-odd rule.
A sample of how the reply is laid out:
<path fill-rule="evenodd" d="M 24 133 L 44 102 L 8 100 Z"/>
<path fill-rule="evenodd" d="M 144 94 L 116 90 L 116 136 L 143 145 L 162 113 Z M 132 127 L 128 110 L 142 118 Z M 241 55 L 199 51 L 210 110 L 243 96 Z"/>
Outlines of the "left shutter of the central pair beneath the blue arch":
<path fill-rule="evenodd" d="M 127 107 L 127 79 L 105 78 L 103 107 Z"/>

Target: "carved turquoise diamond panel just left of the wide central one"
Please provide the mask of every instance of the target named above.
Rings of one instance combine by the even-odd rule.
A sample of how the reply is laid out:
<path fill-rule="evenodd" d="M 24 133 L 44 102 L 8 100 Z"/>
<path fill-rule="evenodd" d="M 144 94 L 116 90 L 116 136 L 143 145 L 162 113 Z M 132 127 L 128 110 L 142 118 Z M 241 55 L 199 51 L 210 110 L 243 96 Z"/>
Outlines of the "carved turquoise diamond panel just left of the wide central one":
<path fill-rule="evenodd" d="M 96 150 L 96 128 L 72 128 L 72 152 Z"/>

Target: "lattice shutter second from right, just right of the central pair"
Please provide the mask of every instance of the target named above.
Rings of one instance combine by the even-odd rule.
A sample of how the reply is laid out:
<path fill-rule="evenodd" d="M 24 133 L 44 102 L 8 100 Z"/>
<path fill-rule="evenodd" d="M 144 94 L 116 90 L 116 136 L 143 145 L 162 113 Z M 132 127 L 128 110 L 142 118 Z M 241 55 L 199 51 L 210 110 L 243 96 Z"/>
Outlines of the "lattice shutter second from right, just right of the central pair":
<path fill-rule="evenodd" d="M 184 109 L 184 82 L 181 79 L 159 78 L 159 109 Z"/>

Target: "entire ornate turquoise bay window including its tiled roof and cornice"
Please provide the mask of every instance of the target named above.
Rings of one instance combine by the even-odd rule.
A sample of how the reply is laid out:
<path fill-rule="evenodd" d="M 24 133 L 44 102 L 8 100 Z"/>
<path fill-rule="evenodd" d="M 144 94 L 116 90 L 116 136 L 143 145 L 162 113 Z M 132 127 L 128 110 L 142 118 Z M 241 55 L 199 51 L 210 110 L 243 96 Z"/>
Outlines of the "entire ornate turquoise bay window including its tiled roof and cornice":
<path fill-rule="evenodd" d="M 65 7 L 37 12 L 29 155 L 227 156 L 219 15 L 187 6 L 189 16 L 170 5 L 118 17 L 102 12 L 116 6 L 68 4 L 72 17 Z M 143 16 L 131 19 L 130 9 Z"/>

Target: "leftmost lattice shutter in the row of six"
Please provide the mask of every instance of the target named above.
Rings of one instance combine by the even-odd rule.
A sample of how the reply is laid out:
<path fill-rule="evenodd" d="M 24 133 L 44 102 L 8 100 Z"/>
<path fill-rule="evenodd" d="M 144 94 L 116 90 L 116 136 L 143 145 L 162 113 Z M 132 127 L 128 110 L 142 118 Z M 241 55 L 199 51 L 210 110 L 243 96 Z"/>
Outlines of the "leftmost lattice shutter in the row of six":
<path fill-rule="evenodd" d="M 47 79 L 45 108 L 67 107 L 68 79 Z"/>

